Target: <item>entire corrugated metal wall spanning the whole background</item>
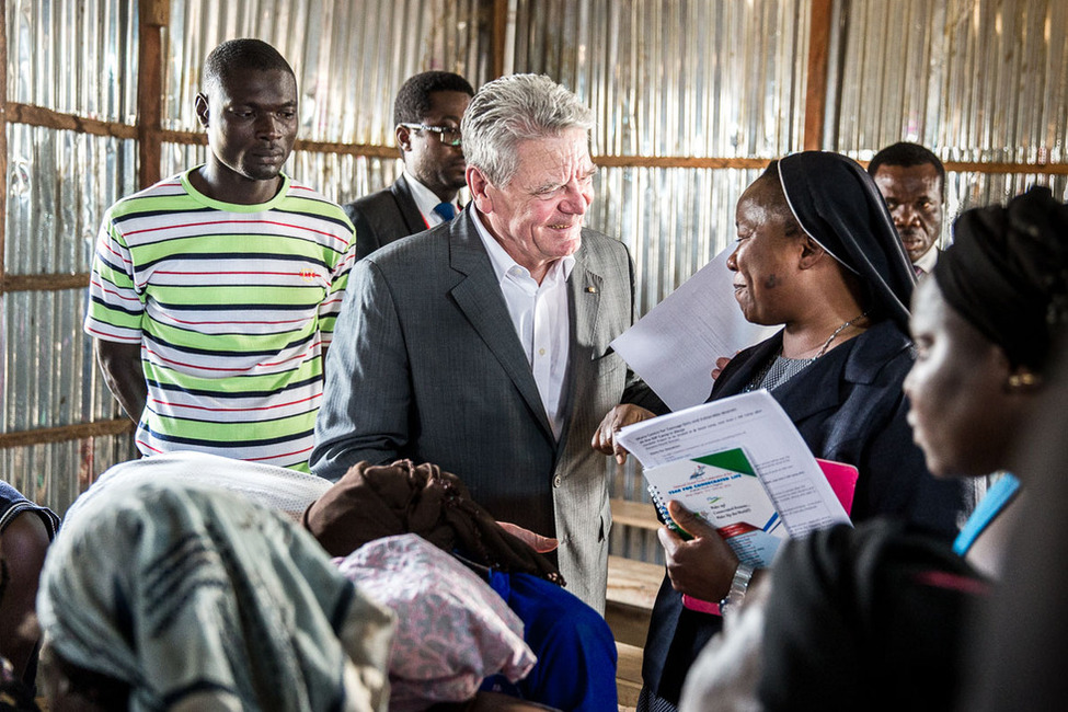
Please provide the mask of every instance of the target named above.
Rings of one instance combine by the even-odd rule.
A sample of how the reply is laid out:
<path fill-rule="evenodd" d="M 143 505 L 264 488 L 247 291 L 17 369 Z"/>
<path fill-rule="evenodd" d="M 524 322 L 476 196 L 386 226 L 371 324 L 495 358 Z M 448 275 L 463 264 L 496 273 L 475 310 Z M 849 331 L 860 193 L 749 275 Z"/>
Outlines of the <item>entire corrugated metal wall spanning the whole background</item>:
<path fill-rule="evenodd" d="M 492 0 L 171 0 L 163 128 L 198 133 L 198 67 L 221 39 L 259 36 L 291 60 L 302 139 L 377 150 L 298 151 L 288 166 L 340 202 L 393 180 L 390 107 L 430 68 L 475 85 L 491 69 Z M 506 71 L 546 72 L 595 108 L 593 227 L 631 249 L 646 311 L 734 238 L 734 205 L 762 161 L 804 146 L 811 0 L 512 0 Z M 951 161 L 1061 162 L 1068 4 L 1060 0 L 837 0 L 824 146 L 861 160 L 898 139 Z M 135 0 L 7 0 L 8 101 L 133 125 Z M 190 134 L 186 134 L 188 137 Z M 136 142 L 9 124 L 4 267 L 88 272 L 103 208 L 136 187 Z M 164 143 L 170 174 L 203 161 Z M 1063 172 L 1063 171 L 1061 171 Z M 950 213 L 1064 175 L 951 170 Z M 80 331 L 83 290 L 3 295 L 3 432 L 118 414 Z M 0 450 L 4 478 L 62 510 L 131 455 L 126 437 Z M 81 478 L 79 481 L 78 478 Z M 618 496 L 640 499 L 633 471 Z M 617 553 L 658 547 L 620 531 Z"/>

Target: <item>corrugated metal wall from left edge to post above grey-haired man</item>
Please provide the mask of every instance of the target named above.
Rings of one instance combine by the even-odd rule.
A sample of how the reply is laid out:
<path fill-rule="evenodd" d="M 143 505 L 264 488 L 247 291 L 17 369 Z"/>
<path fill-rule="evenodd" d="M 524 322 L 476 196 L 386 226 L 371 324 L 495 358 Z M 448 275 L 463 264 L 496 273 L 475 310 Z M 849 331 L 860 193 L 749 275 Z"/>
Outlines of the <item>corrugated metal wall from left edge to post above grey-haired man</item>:
<path fill-rule="evenodd" d="M 163 128 L 199 131 L 199 66 L 219 42 L 271 42 L 294 65 L 300 138 L 392 145 L 393 94 L 409 76 L 448 69 L 485 81 L 484 0 L 305 2 L 172 0 L 164 34 Z M 8 101 L 133 126 L 137 0 L 7 0 Z M 104 209 L 137 190 L 129 139 L 9 124 L 8 275 L 84 274 Z M 203 162 L 205 147 L 164 143 L 163 175 Z M 391 182 L 399 161 L 298 151 L 296 177 L 337 200 Z M 2 300 L 0 432 L 120 417 L 82 334 L 85 289 L 11 291 Z M 65 512 L 92 478 L 136 457 L 129 436 L 0 449 L 3 479 Z"/>

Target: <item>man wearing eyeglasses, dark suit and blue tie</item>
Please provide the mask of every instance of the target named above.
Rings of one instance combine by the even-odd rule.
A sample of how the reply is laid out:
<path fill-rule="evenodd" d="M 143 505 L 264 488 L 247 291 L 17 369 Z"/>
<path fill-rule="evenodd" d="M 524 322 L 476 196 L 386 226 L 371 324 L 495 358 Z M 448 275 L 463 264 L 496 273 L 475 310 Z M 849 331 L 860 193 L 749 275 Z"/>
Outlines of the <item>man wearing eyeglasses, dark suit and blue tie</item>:
<path fill-rule="evenodd" d="M 387 188 L 344 207 L 356 226 L 356 259 L 384 244 L 451 220 L 466 185 L 460 119 L 474 90 L 463 77 L 425 71 L 411 77 L 393 102 L 404 172 Z"/>

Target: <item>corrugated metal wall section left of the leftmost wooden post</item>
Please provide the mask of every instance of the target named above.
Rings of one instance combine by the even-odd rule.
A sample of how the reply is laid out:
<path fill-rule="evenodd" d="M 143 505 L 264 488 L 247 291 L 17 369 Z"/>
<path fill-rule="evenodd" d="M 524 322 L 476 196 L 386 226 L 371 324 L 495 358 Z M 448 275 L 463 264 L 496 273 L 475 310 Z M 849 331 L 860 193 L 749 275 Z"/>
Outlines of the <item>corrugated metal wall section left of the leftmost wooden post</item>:
<path fill-rule="evenodd" d="M 8 0 L 8 100 L 133 123 L 136 0 Z M 135 190 L 133 140 L 8 124 L 7 275 L 89 271 L 103 210 Z M 2 297 L 0 432 L 56 427 L 120 413 L 82 336 L 84 289 Z M 104 436 L 0 450 L 3 478 L 65 509 L 102 468 L 134 455 Z"/>

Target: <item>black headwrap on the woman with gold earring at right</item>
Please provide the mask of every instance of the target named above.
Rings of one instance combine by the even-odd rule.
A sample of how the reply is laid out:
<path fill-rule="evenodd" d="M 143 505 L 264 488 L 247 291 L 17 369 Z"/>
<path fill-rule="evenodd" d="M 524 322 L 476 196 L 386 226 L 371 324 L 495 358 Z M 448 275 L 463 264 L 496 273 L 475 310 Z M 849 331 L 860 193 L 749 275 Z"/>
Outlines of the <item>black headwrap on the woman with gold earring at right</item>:
<path fill-rule="evenodd" d="M 1041 371 L 1068 321 L 1068 207 L 1033 187 L 963 213 L 953 236 L 933 272 L 945 301 L 1013 367 Z"/>

